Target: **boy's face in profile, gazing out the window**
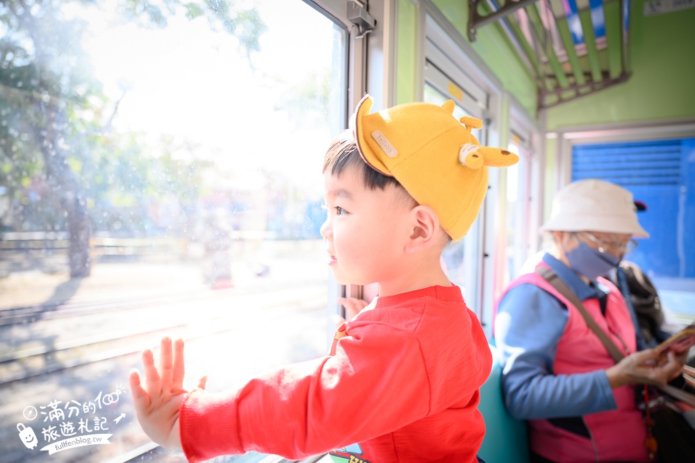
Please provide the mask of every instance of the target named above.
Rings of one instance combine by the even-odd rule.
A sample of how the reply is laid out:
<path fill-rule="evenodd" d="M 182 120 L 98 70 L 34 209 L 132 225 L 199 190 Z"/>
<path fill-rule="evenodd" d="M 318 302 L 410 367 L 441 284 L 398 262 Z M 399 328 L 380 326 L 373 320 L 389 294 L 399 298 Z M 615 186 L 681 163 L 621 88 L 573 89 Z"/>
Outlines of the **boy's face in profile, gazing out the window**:
<path fill-rule="evenodd" d="M 321 235 L 338 283 L 367 285 L 396 278 L 415 201 L 395 185 L 370 190 L 354 168 L 340 177 L 326 172 L 324 180 L 328 216 Z"/>

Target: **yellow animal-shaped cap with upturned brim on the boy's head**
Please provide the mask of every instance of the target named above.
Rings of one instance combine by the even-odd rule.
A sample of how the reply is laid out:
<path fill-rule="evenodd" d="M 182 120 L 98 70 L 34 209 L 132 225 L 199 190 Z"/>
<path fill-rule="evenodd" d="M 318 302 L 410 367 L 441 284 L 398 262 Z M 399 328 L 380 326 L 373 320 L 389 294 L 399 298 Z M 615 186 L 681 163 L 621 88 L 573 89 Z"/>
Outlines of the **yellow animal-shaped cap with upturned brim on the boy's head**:
<path fill-rule="evenodd" d="M 487 192 L 487 166 L 518 161 L 509 151 L 480 146 L 471 129 L 475 117 L 454 116 L 455 104 L 407 103 L 370 114 L 374 101 L 365 95 L 350 118 L 363 160 L 396 180 L 415 201 L 439 215 L 454 241 L 471 228 Z"/>

